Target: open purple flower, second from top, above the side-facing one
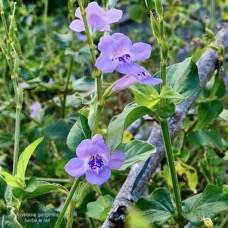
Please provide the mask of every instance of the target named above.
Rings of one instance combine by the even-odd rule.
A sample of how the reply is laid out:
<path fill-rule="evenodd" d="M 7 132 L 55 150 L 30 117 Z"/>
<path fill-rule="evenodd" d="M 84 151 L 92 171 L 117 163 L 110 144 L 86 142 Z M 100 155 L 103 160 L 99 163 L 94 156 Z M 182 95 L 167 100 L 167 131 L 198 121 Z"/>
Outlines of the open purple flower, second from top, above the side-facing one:
<path fill-rule="evenodd" d="M 139 66 L 134 61 L 146 60 L 151 53 L 149 44 L 137 42 L 132 45 L 122 33 L 101 37 L 98 49 L 103 55 L 97 59 L 95 66 L 104 73 L 117 70 L 122 74 L 132 74 Z"/>

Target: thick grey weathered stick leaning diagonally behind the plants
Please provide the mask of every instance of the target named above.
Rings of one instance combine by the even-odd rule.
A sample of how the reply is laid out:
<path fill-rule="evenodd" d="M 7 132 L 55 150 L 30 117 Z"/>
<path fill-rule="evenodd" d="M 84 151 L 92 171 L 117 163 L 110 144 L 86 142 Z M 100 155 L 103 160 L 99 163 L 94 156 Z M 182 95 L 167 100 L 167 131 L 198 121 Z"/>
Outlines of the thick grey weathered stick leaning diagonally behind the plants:
<path fill-rule="evenodd" d="M 228 53 L 228 23 L 224 23 L 219 29 L 216 40 L 218 45 L 223 45 L 225 53 Z M 209 81 L 213 72 L 217 68 L 218 53 L 209 48 L 197 62 L 200 90 L 188 100 L 177 105 L 175 114 L 169 119 L 169 130 L 171 138 L 179 133 L 183 121 L 193 105 L 200 91 Z M 125 214 L 129 207 L 144 195 L 147 189 L 147 183 L 155 172 L 155 169 L 165 157 L 165 149 L 161 129 L 158 123 L 154 123 L 148 142 L 153 144 L 157 152 L 146 161 L 139 162 L 132 166 L 131 171 L 121 187 L 113 206 L 103 224 L 103 228 L 124 227 Z"/>

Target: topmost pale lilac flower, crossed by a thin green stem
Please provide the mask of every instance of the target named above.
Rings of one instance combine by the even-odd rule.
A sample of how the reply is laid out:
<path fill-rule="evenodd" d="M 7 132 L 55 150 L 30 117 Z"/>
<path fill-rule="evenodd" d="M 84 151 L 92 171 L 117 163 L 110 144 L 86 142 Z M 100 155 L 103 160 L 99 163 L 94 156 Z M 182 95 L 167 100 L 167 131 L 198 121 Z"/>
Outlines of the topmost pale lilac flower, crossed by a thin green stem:
<path fill-rule="evenodd" d="M 90 30 L 95 33 L 97 31 L 110 31 L 110 24 L 119 21 L 122 17 L 122 10 L 110 9 L 107 12 L 104 11 L 96 2 L 91 2 L 86 8 L 86 18 Z M 75 32 L 85 31 L 81 10 L 78 7 L 76 9 L 75 17 L 79 18 L 74 20 L 70 24 L 70 29 Z"/>

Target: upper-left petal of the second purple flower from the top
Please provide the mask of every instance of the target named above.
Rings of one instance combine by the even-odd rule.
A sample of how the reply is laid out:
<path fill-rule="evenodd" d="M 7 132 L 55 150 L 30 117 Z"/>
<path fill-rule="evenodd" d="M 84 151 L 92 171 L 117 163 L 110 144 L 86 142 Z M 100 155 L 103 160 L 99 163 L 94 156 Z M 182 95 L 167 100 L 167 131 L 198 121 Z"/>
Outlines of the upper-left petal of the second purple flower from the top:
<path fill-rule="evenodd" d="M 115 53 L 115 50 L 116 50 L 115 41 L 116 40 L 111 36 L 103 36 L 103 37 L 101 37 L 100 42 L 98 44 L 98 49 L 104 55 L 106 55 L 112 59 L 112 57 Z"/>

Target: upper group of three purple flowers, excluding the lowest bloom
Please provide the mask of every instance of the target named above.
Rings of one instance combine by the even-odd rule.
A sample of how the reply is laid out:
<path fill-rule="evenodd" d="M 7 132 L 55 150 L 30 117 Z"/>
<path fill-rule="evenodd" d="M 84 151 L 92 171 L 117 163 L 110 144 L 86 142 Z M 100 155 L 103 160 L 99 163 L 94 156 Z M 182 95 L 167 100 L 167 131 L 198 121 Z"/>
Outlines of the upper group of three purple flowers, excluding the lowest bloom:
<path fill-rule="evenodd" d="M 96 2 L 88 4 L 86 8 L 86 19 L 93 33 L 98 31 L 110 31 L 110 24 L 117 22 L 122 17 L 122 11 L 110 9 L 104 11 Z M 85 30 L 80 8 L 76 9 L 75 16 L 78 18 L 70 24 L 70 28 L 76 32 Z M 123 90 L 134 83 L 156 85 L 162 82 L 159 78 L 153 78 L 150 73 L 135 61 L 149 59 L 151 46 L 143 42 L 132 44 L 131 40 L 122 33 L 114 33 L 101 37 L 98 44 L 100 56 L 95 66 L 103 73 L 118 71 L 126 74 L 116 81 L 113 92 Z"/>

